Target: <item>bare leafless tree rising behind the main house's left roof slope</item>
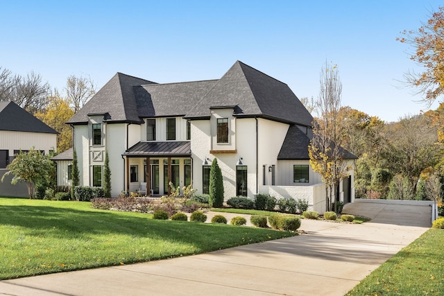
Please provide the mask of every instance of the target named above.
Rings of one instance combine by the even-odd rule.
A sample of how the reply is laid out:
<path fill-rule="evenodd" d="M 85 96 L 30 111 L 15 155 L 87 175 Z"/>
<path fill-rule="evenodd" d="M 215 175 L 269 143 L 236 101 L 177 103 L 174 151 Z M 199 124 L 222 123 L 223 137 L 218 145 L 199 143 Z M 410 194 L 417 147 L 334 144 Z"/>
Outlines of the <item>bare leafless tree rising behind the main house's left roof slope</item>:
<path fill-rule="evenodd" d="M 76 77 L 71 75 L 67 78 L 67 99 L 69 105 L 73 108 L 74 112 L 80 110 L 83 105 L 96 94 L 94 82 L 91 78 Z"/>

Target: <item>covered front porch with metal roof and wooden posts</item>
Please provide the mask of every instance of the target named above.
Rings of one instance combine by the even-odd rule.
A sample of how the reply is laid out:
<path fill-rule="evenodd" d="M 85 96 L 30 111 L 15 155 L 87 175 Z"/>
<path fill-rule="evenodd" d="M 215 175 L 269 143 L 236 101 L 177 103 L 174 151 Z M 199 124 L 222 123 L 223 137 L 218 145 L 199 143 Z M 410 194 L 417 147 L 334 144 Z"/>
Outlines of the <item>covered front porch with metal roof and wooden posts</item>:
<path fill-rule="evenodd" d="M 123 159 L 127 193 L 141 192 L 146 184 L 142 195 L 170 195 L 170 182 L 181 191 L 192 182 L 189 141 L 139 142 L 123 153 Z"/>

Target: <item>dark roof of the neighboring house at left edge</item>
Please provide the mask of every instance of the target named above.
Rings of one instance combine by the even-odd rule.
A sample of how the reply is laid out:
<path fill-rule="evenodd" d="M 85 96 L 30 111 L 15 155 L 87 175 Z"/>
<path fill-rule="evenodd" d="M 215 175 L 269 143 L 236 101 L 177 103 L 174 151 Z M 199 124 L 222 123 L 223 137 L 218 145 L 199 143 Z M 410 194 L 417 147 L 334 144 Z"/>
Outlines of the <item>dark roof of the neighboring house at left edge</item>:
<path fill-rule="evenodd" d="M 14 102 L 0 102 L 0 130 L 58 133 Z"/>

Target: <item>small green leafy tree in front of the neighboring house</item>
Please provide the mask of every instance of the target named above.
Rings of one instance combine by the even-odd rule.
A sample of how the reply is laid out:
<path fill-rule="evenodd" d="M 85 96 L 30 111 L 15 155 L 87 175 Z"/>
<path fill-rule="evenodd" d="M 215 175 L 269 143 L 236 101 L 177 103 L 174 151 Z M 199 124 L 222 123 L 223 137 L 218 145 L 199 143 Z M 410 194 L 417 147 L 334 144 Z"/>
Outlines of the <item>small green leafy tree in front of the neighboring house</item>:
<path fill-rule="evenodd" d="M 3 175 L 1 182 L 9 174 L 14 175 L 11 184 L 17 184 L 17 182 L 23 180 L 26 182 L 30 199 L 35 196 L 35 184 L 49 183 L 53 171 L 56 170 L 49 157 L 34 148 L 26 153 L 20 150 L 20 153 L 15 156 L 14 161 L 7 166 L 7 169 L 9 171 Z"/>

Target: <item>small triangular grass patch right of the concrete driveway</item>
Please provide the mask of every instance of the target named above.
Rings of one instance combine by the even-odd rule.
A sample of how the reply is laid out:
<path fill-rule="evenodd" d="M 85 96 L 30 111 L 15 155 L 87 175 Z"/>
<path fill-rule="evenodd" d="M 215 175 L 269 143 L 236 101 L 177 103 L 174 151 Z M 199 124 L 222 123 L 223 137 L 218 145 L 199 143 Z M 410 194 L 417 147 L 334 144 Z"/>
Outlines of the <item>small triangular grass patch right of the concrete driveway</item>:
<path fill-rule="evenodd" d="M 444 295 L 444 229 L 430 229 L 347 295 Z"/>

